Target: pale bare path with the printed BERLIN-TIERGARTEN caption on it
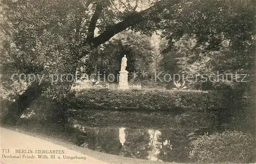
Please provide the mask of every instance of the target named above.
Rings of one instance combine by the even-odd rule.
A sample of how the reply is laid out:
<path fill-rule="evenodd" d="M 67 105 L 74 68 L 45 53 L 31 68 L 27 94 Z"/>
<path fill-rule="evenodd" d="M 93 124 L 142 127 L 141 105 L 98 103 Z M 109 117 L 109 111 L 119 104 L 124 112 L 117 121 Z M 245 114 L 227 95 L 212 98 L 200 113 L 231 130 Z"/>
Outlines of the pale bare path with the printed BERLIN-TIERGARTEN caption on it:
<path fill-rule="evenodd" d="M 1 127 L 1 163 L 102 163 L 101 160 L 33 136 Z M 4 150 L 6 149 L 6 150 Z M 52 150 L 50 152 L 50 150 Z M 55 151 L 53 151 L 55 150 Z M 9 153 L 8 153 L 9 152 Z M 57 154 L 56 154 L 57 153 Z M 51 159 L 55 155 L 55 159 Z M 58 156 L 61 159 L 58 159 Z M 39 158 L 41 157 L 41 158 Z M 71 158 L 74 159 L 71 159 Z M 86 159 L 77 159 L 84 158 Z M 32 159 L 33 158 L 33 159 Z M 53 156 L 52 156 L 53 158 Z M 67 159 L 69 158 L 69 159 Z"/>

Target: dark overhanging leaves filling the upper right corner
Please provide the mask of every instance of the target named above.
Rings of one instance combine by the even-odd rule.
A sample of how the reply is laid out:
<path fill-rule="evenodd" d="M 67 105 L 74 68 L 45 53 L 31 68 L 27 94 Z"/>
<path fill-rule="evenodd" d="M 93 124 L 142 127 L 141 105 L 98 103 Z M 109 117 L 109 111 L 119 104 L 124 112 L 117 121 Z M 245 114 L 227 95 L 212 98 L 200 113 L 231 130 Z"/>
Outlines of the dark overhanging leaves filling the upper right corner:
<path fill-rule="evenodd" d="M 244 42 L 253 42 L 254 8 L 253 1 L 184 1 L 164 11 L 159 26 L 164 29 L 170 48 L 187 34 L 196 37 L 195 47 L 202 46 L 204 51 L 219 50 L 226 39 L 232 48 L 247 49 L 251 44 Z"/>

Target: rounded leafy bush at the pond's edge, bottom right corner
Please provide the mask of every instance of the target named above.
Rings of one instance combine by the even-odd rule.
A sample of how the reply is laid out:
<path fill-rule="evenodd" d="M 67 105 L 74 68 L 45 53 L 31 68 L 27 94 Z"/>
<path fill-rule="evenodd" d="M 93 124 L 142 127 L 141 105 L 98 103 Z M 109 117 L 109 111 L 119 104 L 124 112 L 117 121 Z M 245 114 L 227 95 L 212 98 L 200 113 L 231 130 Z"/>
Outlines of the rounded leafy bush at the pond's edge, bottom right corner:
<path fill-rule="evenodd" d="M 255 139 L 237 131 L 203 135 L 191 146 L 189 157 L 200 163 L 246 163 L 255 155 Z"/>

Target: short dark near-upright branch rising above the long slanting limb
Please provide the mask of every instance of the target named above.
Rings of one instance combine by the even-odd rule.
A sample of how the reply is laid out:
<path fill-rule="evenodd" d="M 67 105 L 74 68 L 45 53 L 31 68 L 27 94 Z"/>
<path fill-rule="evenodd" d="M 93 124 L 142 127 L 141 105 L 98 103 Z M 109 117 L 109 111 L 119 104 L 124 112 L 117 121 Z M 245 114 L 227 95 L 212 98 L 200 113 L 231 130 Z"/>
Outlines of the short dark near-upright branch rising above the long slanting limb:
<path fill-rule="evenodd" d="M 103 6 L 100 3 L 96 5 L 95 12 L 92 16 L 92 19 L 91 19 L 91 22 L 90 22 L 89 28 L 88 28 L 88 35 L 86 38 L 87 42 L 92 42 L 92 40 L 94 38 L 94 30 L 95 30 L 97 20 L 100 16 L 102 9 L 103 9 Z"/>

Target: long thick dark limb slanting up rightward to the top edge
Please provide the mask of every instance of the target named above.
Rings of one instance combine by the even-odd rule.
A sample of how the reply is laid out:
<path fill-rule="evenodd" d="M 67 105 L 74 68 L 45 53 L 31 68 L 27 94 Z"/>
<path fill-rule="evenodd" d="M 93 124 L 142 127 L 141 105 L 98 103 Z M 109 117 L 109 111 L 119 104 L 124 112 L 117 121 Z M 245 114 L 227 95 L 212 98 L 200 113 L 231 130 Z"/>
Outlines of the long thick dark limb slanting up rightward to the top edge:
<path fill-rule="evenodd" d="M 93 39 L 93 46 L 97 47 L 100 44 L 105 43 L 115 34 L 125 30 L 128 27 L 134 26 L 150 18 L 153 13 L 160 13 L 166 7 L 174 6 L 178 4 L 181 0 L 161 0 L 157 2 L 156 5 L 140 11 L 140 12 L 132 12 L 130 15 L 126 16 L 122 22 L 119 22 L 115 25 L 109 26 L 106 28 L 104 32 L 102 32 L 99 36 Z"/>

